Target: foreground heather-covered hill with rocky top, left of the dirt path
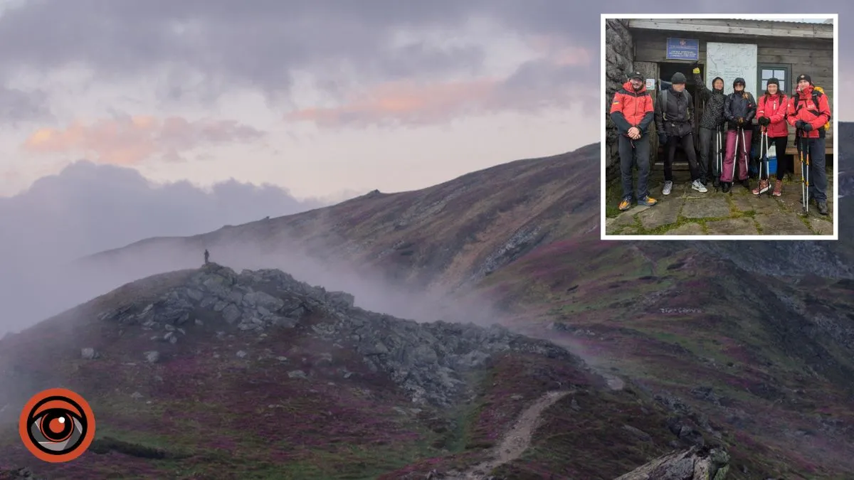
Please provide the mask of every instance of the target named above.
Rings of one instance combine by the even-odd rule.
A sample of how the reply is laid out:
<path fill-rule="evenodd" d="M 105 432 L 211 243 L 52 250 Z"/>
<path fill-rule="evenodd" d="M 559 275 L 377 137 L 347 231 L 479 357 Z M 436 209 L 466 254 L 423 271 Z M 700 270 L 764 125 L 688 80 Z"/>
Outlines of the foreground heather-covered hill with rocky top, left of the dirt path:
<path fill-rule="evenodd" d="M 97 355 L 81 357 L 82 348 Z M 0 379 L 16 387 L 0 390 L 4 405 L 62 385 L 96 412 L 96 442 L 59 465 L 20 446 L 18 412 L 0 416 L 0 468 L 28 465 L 47 478 L 397 478 L 465 469 L 549 391 L 563 395 L 547 409 L 555 431 L 538 431 L 535 442 L 550 435 L 559 444 L 503 465 L 513 478 L 613 478 L 671 442 L 699 438 L 680 441 L 648 395 L 609 389 L 547 342 L 498 327 L 393 319 L 282 272 L 238 275 L 214 264 L 127 284 L 4 338 Z"/>

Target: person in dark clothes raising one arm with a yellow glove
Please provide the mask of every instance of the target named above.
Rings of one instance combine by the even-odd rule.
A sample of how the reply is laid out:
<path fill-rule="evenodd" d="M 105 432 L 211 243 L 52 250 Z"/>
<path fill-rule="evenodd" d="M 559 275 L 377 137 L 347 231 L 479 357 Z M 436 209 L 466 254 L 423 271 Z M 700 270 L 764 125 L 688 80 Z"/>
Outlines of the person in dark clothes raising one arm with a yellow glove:
<path fill-rule="evenodd" d="M 715 188 L 721 184 L 721 172 L 717 166 L 717 134 L 721 132 L 724 124 L 723 103 L 726 96 L 723 95 L 723 79 L 715 77 L 711 80 L 711 88 L 703 83 L 703 77 L 699 74 L 699 63 L 694 62 L 693 67 L 694 85 L 697 85 L 700 100 L 705 101 L 703 118 L 699 121 L 699 179 L 705 185 L 711 175 Z M 709 155 L 711 153 L 711 155 Z M 721 152 L 722 155 L 722 152 Z"/>

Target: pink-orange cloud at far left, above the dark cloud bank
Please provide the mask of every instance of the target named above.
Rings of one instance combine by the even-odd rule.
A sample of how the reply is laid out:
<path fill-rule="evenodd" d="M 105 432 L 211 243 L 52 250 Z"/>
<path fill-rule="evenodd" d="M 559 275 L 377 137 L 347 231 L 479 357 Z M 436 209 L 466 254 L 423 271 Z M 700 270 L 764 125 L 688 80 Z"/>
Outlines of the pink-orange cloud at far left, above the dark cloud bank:
<path fill-rule="evenodd" d="M 182 161 L 182 153 L 215 143 L 245 143 L 263 137 L 251 126 L 234 120 L 196 120 L 181 117 L 158 119 L 151 115 L 73 121 L 64 129 L 40 128 L 21 145 L 30 153 L 79 153 L 93 161 L 114 165 L 138 165 L 161 159 Z"/>

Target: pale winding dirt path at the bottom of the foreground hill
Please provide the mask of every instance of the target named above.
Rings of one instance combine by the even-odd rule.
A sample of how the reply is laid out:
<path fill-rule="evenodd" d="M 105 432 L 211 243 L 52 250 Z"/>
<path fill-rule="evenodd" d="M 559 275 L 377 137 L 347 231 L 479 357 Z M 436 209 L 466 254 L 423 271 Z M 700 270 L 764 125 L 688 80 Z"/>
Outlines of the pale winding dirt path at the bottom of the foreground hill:
<path fill-rule="evenodd" d="M 551 391 L 546 395 L 542 395 L 519 415 L 512 429 L 501 439 L 500 445 L 493 449 L 491 453 L 493 458 L 491 460 L 474 465 L 469 470 L 457 476 L 443 478 L 453 480 L 481 480 L 488 477 L 489 471 L 492 471 L 494 468 L 518 459 L 528 448 L 534 430 L 540 426 L 541 414 L 569 393 L 570 391 L 564 390 Z"/>

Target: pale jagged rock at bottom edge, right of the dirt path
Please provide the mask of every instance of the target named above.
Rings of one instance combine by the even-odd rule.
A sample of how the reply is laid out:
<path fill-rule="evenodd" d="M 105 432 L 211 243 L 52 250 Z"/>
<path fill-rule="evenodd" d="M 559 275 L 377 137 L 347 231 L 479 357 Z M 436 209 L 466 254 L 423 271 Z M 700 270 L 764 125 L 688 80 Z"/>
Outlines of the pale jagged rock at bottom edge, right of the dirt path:
<path fill-rule="evenodd" d="M 652 460 L 615 480 L 723 480 L 729 454 L 721 448 L 690 448 Z"/>

